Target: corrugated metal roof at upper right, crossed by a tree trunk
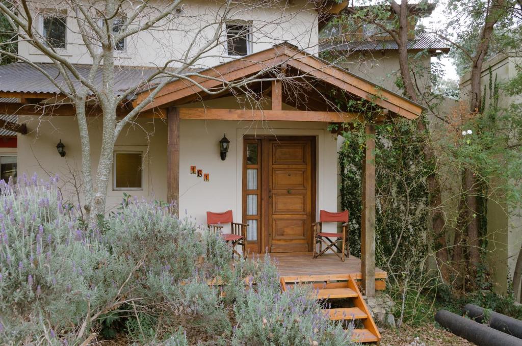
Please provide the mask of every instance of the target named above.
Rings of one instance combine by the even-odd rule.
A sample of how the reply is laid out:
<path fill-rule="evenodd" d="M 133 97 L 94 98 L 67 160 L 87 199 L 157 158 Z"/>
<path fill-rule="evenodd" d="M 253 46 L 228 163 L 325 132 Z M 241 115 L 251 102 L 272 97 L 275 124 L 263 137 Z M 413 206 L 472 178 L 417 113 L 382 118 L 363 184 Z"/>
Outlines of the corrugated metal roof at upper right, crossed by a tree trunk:
<path fill-rule="evenodd" d="M 334 51 L 383 51 L 397 50 L 397 42 L 388 40 L 374 41 L 351 41 L 336 42 L 335 40 L 325 40 L 319 43 L 319 50 Z M 410 50 L 440 50 L 445 53 L 449 51 L 449 46 L 441 39 L 426 33 L 416 35 L 415 39 L 408 40 L 408 49 Z"/>

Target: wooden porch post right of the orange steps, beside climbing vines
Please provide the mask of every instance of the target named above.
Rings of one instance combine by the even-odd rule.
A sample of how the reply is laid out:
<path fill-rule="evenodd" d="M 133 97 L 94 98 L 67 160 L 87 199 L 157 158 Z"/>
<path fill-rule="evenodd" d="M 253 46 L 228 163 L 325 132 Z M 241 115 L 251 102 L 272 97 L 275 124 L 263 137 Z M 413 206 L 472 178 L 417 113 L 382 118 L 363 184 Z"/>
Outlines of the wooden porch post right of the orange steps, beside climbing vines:
<path fill-rule="evenodd" d="M 362 161 L 361 213 L 362 287 L 367 297 L 375 295 L 375 125 L 366 125 L 366 148 Z"/>

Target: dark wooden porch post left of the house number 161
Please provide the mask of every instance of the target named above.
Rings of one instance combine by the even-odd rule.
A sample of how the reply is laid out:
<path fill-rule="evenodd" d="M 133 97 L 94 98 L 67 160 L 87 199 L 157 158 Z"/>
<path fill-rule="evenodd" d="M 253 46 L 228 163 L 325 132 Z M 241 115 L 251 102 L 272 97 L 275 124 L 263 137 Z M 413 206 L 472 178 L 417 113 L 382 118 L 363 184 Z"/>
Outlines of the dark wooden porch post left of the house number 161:
<path fill-rule="evenodd" d="M 168 110 L 167 133 L 167 201 L 180 207 L 180 111 L 176 107 Z"/>

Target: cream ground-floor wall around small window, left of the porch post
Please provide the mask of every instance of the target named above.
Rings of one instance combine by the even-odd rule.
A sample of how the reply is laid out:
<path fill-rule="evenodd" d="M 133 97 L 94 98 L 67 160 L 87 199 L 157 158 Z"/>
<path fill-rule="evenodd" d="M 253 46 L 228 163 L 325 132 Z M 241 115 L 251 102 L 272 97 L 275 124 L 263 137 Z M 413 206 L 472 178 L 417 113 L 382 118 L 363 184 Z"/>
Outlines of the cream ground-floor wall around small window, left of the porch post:
<path fill-rule="evenodd" d="M 37 173 L 44 180 L 49 175 L 60 176 L 60 186 L 67 201 L 78 204 L 73 173 L 81 190 L 81 146 L 78 125 L 73 116 L 20 116 L 29 133 L 18 135 L 18 175 Z M 96 169 L 101 148 L 101 120 L 89 119 L 91 158 Z M 60 157 L 56 144 L 62 140 L 66 155 Z M 140 119 L 136 126 L 122 131 L 115 150 L 143 150 L 145 177 L 143 191 L 128 192 L 133 196 L 167 199 L 167 126 L 161 120 Z M 112 190 L 112 178 L 108 191 L 108 210 L 121 202 L 123 191 Z"/>

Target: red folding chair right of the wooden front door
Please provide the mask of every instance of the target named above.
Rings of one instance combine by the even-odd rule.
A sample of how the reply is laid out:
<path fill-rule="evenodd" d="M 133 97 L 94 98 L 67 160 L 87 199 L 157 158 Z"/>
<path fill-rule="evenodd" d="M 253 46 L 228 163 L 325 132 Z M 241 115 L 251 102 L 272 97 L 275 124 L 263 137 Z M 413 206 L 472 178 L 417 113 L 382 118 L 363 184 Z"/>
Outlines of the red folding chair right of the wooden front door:
<path fill-rule="evenodd" d="M 323 222 L 342 222 L 342 233 L 323 232 Z M 314 228 L 314 258 L 317 258 L 327 252 L 329 249 L 333 250 L 341 261 L 345 261 L 346 257 L 350 257 L 350 246 L 348 244 L 348 210 L 341 212 L 329 212 L 321 210 L 319 214 L 319 221 L 312 223 Z M 331 238 L 334 240 L 332 241 Z M 319 243 L 319 252 L 317 252 L 317 243 Z M 322 250 L 323 243 L 326 248 Z M 338 244 L 341 244 L 339 248 Z M 334 250 L 334 247 L 337 251 Z M 342 249 L 342 250 L 341 250 Z M 340 253 L 340 254 L 339 254 Z"/>

